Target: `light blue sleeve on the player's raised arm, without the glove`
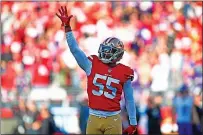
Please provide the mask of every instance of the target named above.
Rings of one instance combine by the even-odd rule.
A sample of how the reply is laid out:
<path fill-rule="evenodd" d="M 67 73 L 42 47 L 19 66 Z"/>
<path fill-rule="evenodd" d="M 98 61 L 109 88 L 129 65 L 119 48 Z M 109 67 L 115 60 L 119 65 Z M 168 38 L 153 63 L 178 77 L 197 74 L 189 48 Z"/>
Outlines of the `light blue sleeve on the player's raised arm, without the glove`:
<path fill-rule="evenodd" d="M 90 74 L 92 68 L 92 62 L 87 58 L 85 53 L 78 47 L 77 41 L 73 36 L 73 33 L 66 33 L 66 40 L 70 48 L 71 53 L 75 57 L 78 65 L 86 72 L 87 75 Z"/>

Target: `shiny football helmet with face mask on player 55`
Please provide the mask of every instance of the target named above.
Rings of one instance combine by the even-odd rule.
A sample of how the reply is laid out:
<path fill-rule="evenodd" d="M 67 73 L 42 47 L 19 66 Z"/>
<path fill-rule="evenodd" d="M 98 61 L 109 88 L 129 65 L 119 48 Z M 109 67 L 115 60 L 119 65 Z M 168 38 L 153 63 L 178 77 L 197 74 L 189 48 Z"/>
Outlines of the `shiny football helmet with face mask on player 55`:
<path fill-rule="evenodd" d="M 109 37 L 100 44 L 98 53 L 103 63 L 116 63 L 123 57 L 123 42 L 118 38 Z"/>

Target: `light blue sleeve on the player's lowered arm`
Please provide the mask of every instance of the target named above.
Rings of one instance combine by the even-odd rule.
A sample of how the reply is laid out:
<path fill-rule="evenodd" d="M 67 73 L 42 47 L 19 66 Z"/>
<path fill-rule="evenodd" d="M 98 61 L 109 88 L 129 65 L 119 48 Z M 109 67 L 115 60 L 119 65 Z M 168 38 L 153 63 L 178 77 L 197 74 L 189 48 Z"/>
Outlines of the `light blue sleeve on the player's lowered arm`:
<path fill-rule="evenodd" d="M 124 97 L 126 101 L 126 109 L 129 115 L 130 125 L 137 125 L 136 109 L 133 97 L 133 88 L 131 86 L 131 79 L 124 84 Z"/>

